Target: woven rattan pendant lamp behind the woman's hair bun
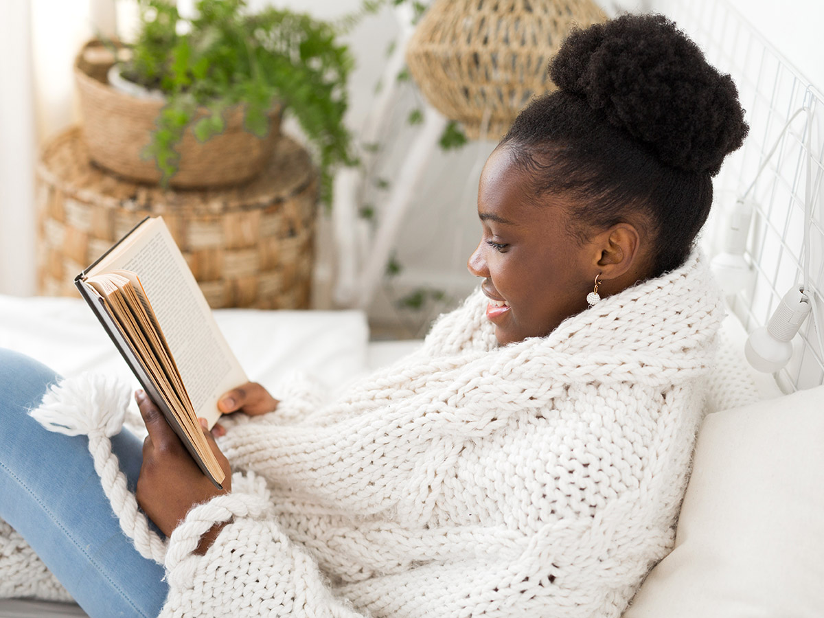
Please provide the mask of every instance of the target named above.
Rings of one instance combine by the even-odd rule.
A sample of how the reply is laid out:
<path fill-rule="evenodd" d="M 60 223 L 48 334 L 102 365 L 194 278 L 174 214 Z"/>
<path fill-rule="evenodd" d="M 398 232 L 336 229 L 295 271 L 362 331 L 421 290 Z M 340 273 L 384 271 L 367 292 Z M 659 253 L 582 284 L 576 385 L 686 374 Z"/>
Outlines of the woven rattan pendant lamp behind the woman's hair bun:
<path fill-rule="evenodd" d="M 605 18 L 592 0 L 435 0 L 406 63 L 429 103 L 467 137 L 498 139 L 532 96 L 553 87 L 547 63 L 569 29 Z"/>

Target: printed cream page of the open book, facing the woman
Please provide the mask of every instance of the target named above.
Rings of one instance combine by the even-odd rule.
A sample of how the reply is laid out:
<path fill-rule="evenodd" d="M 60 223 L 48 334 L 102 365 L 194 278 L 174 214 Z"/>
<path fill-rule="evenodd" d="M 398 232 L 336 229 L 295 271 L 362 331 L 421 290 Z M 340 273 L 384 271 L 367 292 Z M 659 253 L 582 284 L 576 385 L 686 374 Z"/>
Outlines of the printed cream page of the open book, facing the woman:
<path fill-rule="evenodd" d="M 162 218 L 149 219 L 88 273 L 113 269 L 138 274 L 183 378 L 195 414 L 218 417 L 218 397 L 247 382 L 189 265 Z"/>

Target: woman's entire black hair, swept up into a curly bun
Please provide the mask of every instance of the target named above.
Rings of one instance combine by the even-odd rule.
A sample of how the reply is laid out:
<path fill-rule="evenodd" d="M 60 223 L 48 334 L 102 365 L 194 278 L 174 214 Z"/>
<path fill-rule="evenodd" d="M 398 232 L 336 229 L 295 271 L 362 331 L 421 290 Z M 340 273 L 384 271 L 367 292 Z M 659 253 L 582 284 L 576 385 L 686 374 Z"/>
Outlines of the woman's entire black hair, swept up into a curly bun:
<path fill-rule="evenodd" d="M 660 15 L 573 30 L 550 63 L 558 90 L 536 98 L 501 141 L 537 194 L 567 192 L 578 236 L 643 213 L 652 276 L 686 260 L 723 158 L 747 135 L 733 80 Z"/>

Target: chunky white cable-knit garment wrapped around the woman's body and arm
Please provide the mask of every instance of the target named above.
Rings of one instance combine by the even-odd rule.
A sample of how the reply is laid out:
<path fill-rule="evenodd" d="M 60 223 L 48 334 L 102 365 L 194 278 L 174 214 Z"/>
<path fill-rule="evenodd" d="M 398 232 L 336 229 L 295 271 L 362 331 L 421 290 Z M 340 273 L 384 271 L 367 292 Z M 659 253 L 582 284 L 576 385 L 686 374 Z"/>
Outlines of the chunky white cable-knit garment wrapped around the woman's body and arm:
<path fill-rule="evenodd" d="M 505 347 L 485 306 L 333 403 L 292 385 L 232 420 L 234 490 L 171 536 L 162 616 L 620 616 L 673 541 L 723 313 L 704 260 Z"/>

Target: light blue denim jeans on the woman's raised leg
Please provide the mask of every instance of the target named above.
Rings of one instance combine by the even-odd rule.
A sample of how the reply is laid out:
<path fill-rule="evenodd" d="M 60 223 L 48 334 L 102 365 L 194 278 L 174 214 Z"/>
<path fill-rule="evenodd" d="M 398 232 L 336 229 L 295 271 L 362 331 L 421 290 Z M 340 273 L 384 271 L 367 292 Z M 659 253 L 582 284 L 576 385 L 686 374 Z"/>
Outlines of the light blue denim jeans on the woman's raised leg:
<path fill-rule="evenodd" d="M 168 592 L 163 568 L 120 530 L 87 438 L 49 432 L 28 414 L 58 379 L 37 361 L 0 349 L 0 518 L 92 618 L 157 616 Z M 142 447 L 125 429 L 112 438 L 132 491 Z"/>

